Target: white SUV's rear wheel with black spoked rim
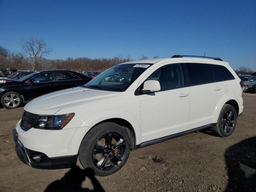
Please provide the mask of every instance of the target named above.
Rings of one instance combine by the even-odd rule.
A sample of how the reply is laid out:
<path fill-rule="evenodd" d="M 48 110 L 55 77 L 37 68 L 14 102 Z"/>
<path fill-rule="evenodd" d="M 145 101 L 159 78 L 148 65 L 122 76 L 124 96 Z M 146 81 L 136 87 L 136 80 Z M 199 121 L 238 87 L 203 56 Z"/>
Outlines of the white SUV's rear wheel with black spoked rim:
<path fill-rule="evenodd" d="M 213 130 L 221 137 L 228 137 L 236 128 L 236 120 L 235 108 L 232 105 L 224 104 Z"/>

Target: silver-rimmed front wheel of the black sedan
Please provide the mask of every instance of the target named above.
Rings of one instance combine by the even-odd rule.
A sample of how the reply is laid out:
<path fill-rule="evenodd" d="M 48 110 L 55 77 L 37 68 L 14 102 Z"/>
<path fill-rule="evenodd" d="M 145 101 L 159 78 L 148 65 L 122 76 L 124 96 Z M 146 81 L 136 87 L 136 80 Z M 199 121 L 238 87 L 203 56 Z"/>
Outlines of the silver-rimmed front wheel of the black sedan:
<path fill-rule="evenodd" d="M 3 94 L 1 104 L 6 109 L 18 108 L 22 104 L 22 98 L 17 92 L 7 92 Z"/>

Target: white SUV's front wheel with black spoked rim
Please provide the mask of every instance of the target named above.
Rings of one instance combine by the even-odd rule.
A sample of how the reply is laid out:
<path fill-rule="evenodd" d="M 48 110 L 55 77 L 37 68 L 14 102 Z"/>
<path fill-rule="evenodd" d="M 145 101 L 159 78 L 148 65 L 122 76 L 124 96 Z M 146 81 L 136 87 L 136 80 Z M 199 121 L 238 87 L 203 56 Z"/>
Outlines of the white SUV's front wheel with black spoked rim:
<path fill-rule="evenodd" d="M 81 142 L 79 159 L 84 168 L 97 176 L 108 176 L 125 164 L 130 154 L 128 128 L 105 122 L 95 126 Z"/>

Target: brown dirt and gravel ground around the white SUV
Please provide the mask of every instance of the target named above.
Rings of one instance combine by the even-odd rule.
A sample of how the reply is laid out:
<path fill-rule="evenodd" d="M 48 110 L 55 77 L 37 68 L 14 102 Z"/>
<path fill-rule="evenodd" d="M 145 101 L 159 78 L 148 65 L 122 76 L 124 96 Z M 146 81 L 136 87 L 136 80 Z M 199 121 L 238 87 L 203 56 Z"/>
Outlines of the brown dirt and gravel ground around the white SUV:
<path fill-rule="evenodd" d="M 210 131 L 132 151 L 124 167 L 107 177 L 90 170 L 38 170 L 16 156 L 12 129 L 23 108 L 0 109 L 0 191 L 256 191 L 256 94 L 244 94 L 235 132 Z"/>

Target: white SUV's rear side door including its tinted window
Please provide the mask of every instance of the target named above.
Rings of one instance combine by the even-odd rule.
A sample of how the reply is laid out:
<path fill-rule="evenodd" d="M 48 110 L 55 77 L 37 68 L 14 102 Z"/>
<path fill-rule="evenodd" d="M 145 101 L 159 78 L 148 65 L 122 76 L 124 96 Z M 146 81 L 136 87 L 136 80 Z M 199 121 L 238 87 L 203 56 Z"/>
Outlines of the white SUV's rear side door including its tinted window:
<path fill-rule="evenodd" d="M 213 72 L 208 64 L 185 64 L 191 94 L 189 128 L 193 129 L 213 123 L 213 114 L 225 87 L 221 82 L 214 82 Z"/>

